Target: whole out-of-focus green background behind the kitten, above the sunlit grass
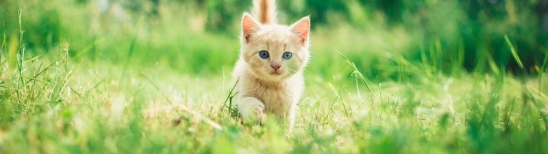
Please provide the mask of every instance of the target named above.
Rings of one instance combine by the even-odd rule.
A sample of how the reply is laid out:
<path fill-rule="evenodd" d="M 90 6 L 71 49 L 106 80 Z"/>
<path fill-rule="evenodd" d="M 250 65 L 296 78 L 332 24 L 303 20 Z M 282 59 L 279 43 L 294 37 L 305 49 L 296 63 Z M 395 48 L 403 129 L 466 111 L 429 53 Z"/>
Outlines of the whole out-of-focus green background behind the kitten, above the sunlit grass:
<path fill-rule="evenodd" d="M 312 18 L 309 70 L 320 75 L 342 64 L 332 58 L 336 51 L 372 79 L 397 78 L 388 68 L 401 60 L 450 74 L 462 69 L 536 74 L 548 51 L 545 0 L 277 3 L 281 23 Z M 2 0 L 0 6 L 0 29 L 8 40 L 19 35 L 22 11 L 23 42 L 33 55 L 69 44 L 71 57 L 80 61 L 164 64 L 182 73 L 210 74 L 232 68 L 240 16 L 251 1 Z M 505 34 L 525 69 L 512 57 Z"/>

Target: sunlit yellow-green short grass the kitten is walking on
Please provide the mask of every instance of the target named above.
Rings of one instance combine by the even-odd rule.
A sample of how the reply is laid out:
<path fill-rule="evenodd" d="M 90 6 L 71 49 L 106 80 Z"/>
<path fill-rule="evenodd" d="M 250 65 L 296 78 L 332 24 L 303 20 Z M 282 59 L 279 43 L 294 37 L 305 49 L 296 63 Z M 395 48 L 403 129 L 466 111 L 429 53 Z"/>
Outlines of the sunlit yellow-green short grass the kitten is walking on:
<path fill-rule="evenodd" d="M 353 77 L 309 70 L 295 133 L 286 136 L 273 120 L 240 125 L 223 110 L 234 84 L 229 70 L 224 78 L 197 77 L 130 66 L 119 78 L 123 66 L 75 62 L 60 48 L 54 61 L 25 60 L 22 76 L 2 58 L 3 153 L 548 151 L 546 88 L 534 78 L 419 71 L 405 81 L 371 83 L 370 92 Z"/>

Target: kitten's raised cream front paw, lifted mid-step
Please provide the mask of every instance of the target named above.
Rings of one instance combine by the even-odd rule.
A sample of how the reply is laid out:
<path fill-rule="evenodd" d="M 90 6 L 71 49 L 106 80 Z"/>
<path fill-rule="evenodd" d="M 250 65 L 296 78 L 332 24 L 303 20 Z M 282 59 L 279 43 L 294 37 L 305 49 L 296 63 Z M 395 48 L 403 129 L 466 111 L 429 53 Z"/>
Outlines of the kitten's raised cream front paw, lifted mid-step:
<path fill-rule="evenodd" d="M 242 97 L 237 101 L 238 110 L 245 120 L 262 120 L 264 104 L 255 97 Z"/>

